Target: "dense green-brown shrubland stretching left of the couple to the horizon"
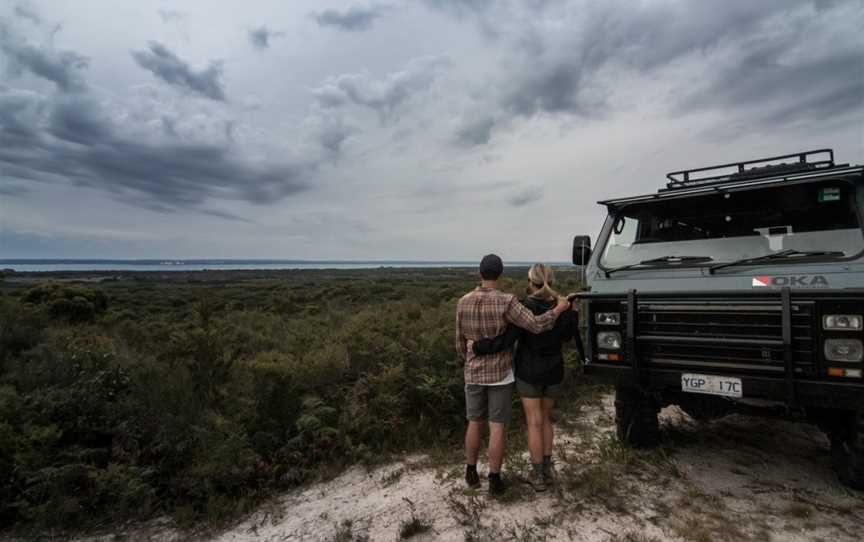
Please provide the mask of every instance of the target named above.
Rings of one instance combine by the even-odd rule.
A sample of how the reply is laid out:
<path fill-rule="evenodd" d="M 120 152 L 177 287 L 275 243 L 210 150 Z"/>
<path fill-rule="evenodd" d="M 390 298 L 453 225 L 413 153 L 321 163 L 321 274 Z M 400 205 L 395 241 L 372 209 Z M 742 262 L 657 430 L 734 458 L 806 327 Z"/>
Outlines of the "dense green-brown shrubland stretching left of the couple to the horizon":
<path fill-rule="evenodd" d="M 0 524 L 219 521 L 349 464 L 458 449 L 453 315 L 475 282 L 469 270 L 7 279 Z"/>

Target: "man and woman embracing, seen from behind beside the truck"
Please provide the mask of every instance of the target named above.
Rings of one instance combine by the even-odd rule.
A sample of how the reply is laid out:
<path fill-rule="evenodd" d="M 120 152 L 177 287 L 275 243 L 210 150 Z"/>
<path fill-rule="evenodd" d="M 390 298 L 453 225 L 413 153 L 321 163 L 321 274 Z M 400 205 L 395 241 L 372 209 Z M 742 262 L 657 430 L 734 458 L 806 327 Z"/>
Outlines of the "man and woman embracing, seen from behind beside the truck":
<path fill-rule="evenodd" d="M 551 411 L 564 377 L 561 345 L 576 335 L 578 319 L 570 302 L 552 289 L 549 266 L 535 264 L 528 270 L 529 295 L 521 302 L 498 289 L 503 272 L 501 258 L 484 256 L 480 286 L 456 308 L 456 351 L 465 360 L 465 481 L 480 485 L 477 457 L 488 423 L 489 492 L 506 490 L 501 464 L 515 386 L 528 426 L 529 480 L 543 491 L 552 481 Z"/>

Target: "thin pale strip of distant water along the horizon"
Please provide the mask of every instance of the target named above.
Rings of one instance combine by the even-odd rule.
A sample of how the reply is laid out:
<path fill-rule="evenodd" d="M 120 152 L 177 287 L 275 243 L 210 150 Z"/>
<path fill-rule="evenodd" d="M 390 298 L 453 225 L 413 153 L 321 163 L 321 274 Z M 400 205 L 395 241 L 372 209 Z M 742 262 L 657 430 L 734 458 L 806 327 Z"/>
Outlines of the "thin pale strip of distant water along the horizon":
<path fill-rule="evenodd" d="M 527 266 L 534 262 L 505 262 Z M 0 269 L 42 271 L 203 271 L 229 269 L 374 269 L 378 267 L 476 267 L 478 262 L 411 260 L 0 260 Z M 557 265 L 557 264 L 556 264 Z M 560 264 L 566 265 L 566 264 Z"/>

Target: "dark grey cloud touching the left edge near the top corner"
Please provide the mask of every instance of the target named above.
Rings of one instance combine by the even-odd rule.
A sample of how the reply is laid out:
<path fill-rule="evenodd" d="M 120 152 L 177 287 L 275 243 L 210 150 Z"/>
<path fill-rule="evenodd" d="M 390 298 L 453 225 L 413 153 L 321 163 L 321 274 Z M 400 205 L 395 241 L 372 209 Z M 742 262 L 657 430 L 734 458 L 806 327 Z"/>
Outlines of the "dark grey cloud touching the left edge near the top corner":
<path fill-rule="evenodd" d="M 88 58 L 73 51 L 31 45 L 0 20 L 0 55 L 8 61 L 11 75 L 28 72 L 47 79 L 64 92 L 82 90 L 86 85 L 81 70 Z"/>

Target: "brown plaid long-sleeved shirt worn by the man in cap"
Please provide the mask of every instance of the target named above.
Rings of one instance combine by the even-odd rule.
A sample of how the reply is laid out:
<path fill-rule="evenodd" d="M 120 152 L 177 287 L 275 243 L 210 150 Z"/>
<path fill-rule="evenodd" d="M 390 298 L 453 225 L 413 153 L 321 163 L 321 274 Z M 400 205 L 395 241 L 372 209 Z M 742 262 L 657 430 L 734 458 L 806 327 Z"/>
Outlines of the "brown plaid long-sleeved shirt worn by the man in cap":
<path fill-rule="evenodd" d="M 534 315 L 513 294 L 492 288 L 465 294 L 456 305 L 456 352 L 465 360 L 466 384 L 494 384 L 513 368 L 513 350 L 485 356 L 468 350 L 468 341 L 495 337 L 511 323 L 531 333 L 542 333 L 555 325 L 556 315 L 547 311 Z"/>

